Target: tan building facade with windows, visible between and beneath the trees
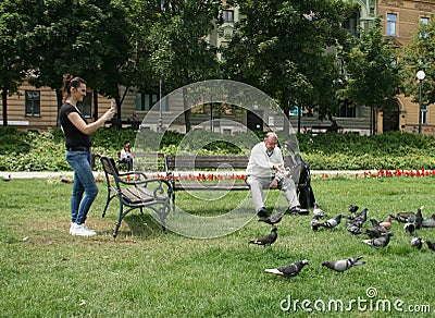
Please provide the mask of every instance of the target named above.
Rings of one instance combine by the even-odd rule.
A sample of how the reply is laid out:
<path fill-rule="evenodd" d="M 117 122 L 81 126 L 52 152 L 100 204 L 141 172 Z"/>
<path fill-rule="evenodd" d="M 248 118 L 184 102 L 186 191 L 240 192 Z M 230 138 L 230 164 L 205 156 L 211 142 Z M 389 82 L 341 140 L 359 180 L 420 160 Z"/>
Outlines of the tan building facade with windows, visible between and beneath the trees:
<path fill-rule="evenodd" d="M 411 34 L 414 33 L 420 23 L 426 23 L 431 14 L 435 12 L 435 0 L 411 1 L 411 0 L 349 0 L 359 4 L 359 12 L 356 12 L 345 23 L 351 34 L 358 36 L 359 27 L 368 30 L 374 19 L 380 15 L 382 19 L 384 35 L 390 38 L 395 46 L 400 48 L 409 44 Z M 223 1 L 225 4 L 225 1 Z M 234 23 L 240 20 L 237 8 L 226 8 L 222 11 L 224 24 L 215 27 L 210 35 L 209 41 L 217 48 L 227 46 L 234 34 Z M 220 57 L 217 57 L 220 58 Z M 163 83 L 164 85 L 164 83 Z M 122 93 L 121 93 L 122 94 Z M 133 114 L 138 119 L 150 114 L 151 108 L 158 102 L 160 96 L 157 94 L 144 94 L 129 89 L 122 106 L 121 120 L 126 120 Z M 98 115 L 109 109 L 111 100 L 94 95 L 91 90 L 87 95 L 84 105 L 80 106 L 85 115 L 92 121 Z M 433 107 L 433 106 L 432 106 Z M 156 122 L 145 129 L 157 130 L 160 126 L 175 129 L 184 132 L 184 119 L 179 118 L 176 122 L 167 121 L 172 119 L 174 112 L 183 109 L 182 100 L 169 100 L 159 105 L 159 114 Z M 269 123 L 266 113 L 241 112 L 220 112 L 213 111 L 212 107 L 198 107 L 194 109 L 191 125 L 198 129 L 210 129 L 213 131 L 234 133 L 238 129 L 226 125 L 210 124 L 216 118 L 221 120 L 236 121 L 248 129 L 264 129 Z M 55 93 L 50 88 L 35 88 L 25 82 L 17 95 L 12 95 L 8 99 L 8 124 L 23 130 L 45 130 L 57 126 L 58 105 Z M 259 119 L 260 117 L 260 119 Z M 364 106 L 347 107 L 344 106 L 334 117 L 337 124 L 344 127 L 345 132 L 358 132 L 359 134 L 370 134 L 370 131 L 385 133 L 389 131 L 418 132 L 419 129 L 419 105 L 405 96 L 397 97 L 397 106 L 388 112 L 378 112 L 375 122 L 372 121 L 371 110 Z M 294 130 L 303 126 L 308 130 L 313 126 L 328 125 L 330 122 L 322 122 L 313 113 L 298 118 L 298 110 L 290 114 L 290 123 Z M 2 113 L 0 114 L 2 124 Z M 435 109 L 431 106 L 423 115 L 423 132 L 435 134 Z"/>

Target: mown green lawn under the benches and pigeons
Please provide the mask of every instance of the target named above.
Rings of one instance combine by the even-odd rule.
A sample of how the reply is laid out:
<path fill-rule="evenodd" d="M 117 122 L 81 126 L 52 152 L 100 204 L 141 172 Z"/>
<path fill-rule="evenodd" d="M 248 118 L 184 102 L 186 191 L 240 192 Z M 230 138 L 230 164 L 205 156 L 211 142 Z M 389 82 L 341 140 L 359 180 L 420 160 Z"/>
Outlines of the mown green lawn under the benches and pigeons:
<path fill-rule="evenodd" d="M 368 207 L 369 217 L 384 219 L 421 205 L 423 215 L 431 216 L 433 183 L 433 178 L 338 178 L 314 180 L 313 187 L 330 216 L 347 213 L 355 204 Z M 100 184 L 88 220 L 99 235 L 74 237 L 67 233 L 71 186 L 49 180 L 0 183 L 2 317 L 405 317 L 410 305 L 435 308 L 435 255 L 426 245 L 412 248 L 397 222 L 390 244 L 378 250 L 361 243 L 365 237 L 351 236 L 344 223 L 332 232 L 311 231 L 310 216 L 285 216 L 277 225 L 278 240 L 269 248 L 248 244 L 270 231 L 257 218 L 228 235 L 194 240 L 162 234 L 150 215 L 136 211 L 124 219 L 113 240 L 117 209 L 113 204 L 101 218 L 105 187 Z M 236 207 L 246 195 L 233 192 L 208 201 L 178 192 L 177 204 L 189 212 L 215 216 Z M 270 201 L 276 199 L 281 209 L 277 195 L 273 192 Z M 435 241 L 435 229 L 418 234 Z M 323 260 L 359 254 L 368 264 L 344 273 L 321 266 Z M 303 258 L 310 264 L 291 282 L 263 272 Z M 377 296 L 370 298 L 369 288 L 376 289 Z M 297 311 L 283 311 L 281 304 L 287 306 L 288 297 L 310 301 L 313 311 L 303 311 L 301 303 Z M 353 303 L 350 313 L 314 308 L 314 302 L 320 306 L 332 299 L 343 301 L 344 310 L 349 302 L 362 303 Z M 376 310 L 375 302 L 382 299 L 391 306 L 403 301 L 403 311 Z M 364 306 L 368 309 L 358 309 Z"/>

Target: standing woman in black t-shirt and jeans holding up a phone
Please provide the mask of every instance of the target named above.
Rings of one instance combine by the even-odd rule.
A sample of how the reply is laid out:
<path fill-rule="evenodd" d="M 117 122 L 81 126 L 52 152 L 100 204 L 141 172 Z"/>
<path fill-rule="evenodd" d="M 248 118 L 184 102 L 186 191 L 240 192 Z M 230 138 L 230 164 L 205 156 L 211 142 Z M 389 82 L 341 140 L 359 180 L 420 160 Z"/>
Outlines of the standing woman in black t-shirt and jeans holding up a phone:
<path fill-rule="evenodd" d="M 91 236 L 97 232 L 89 230 L 85 221 L 90 206 L 97 197 L 98 187 L 90 166 L 91 140 L 89 135 L 102 127 L 105 121 L 110 121 L 114 110 L 111 108 L 99 120 L 88 123 L 77 108 L 77 102 L 83 101 L 86 96 L 86 81 L 65 74 L 63 93 L 65 101 L 60 110 L 60 122 L 65 134 L 66 161 L 74 170 L 70 234 Z"/>

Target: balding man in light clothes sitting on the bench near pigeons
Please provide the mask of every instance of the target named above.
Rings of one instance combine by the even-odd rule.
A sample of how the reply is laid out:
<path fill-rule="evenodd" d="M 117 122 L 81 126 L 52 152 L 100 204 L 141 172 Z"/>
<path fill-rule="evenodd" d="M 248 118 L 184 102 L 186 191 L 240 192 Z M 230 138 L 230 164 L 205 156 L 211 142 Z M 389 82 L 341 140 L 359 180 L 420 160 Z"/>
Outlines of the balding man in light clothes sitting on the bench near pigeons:
<path fill-rule="evenodd" d="M 250 186 L 256 212 L 261 218 L 270 216 L 264 206 L 263 189 L 278 188 L 285 194 L 290 213 L 307 215 L 309 211 L 300 208 L 295 182 L 284 175 L 284 159 L 277 143 L 276 134 L 270 132 L 263 142 L 253 146 L 249 157 L 246 183 Z"/>

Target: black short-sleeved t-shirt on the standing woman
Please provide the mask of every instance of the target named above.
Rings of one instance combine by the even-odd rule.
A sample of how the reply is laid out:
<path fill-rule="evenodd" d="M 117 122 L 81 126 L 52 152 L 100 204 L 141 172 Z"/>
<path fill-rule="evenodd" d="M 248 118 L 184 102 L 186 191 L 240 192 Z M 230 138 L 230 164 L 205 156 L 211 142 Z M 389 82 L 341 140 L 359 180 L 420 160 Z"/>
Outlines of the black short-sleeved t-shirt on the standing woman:
<path fill-rule="evenodd" d="M 72 112 L 78 113 L 78 115 L 84 120 L 84 122 L 88 123 L 88 121 L 83 117 L 83 114 L 79 111 L 77 111 L 77 109 L 70 102 L 65 102 L 62 105 L 59 117 L 63 129 L 63 133 L 65 134 L 65 147 L 66 148 L 90 147 L 91 145 L 90 137 L 82 133 L 69 120 L 67 115 Z"/>

